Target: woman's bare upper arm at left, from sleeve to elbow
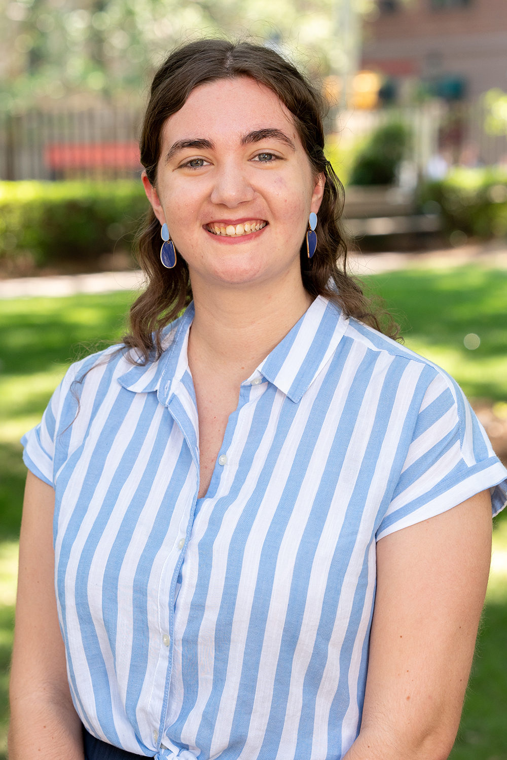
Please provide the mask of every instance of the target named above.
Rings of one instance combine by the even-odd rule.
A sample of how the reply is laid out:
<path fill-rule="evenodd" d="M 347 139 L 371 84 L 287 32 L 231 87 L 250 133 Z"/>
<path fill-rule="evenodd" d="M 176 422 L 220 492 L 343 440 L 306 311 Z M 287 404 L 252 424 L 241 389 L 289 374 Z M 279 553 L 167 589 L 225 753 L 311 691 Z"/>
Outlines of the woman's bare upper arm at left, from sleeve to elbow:
<path fill-rule="evenodd" d="M 65 649 L 55 599 L 54 505 L 52 487 L 29 472 L 20 535 L 11 674 L 13 698 L 28 686 L 32 690 L 50 686 L 68 692 Z"/>

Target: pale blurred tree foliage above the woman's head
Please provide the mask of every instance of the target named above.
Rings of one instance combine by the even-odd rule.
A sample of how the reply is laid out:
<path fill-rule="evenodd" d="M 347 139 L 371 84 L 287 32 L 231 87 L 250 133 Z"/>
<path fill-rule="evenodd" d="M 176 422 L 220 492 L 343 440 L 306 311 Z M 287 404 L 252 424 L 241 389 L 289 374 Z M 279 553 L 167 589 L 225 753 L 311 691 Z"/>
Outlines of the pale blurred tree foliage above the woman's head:
<path fill-rule="evenodd" d="M 77 97 L 138 105 L 168 50 L 203 34 L 252 35 L 325 75 L 337 44 L 331 11 L 345 2 L 0 0 L 0 109 Z M 364 13 L 375 5 L 352 2 Z"/>

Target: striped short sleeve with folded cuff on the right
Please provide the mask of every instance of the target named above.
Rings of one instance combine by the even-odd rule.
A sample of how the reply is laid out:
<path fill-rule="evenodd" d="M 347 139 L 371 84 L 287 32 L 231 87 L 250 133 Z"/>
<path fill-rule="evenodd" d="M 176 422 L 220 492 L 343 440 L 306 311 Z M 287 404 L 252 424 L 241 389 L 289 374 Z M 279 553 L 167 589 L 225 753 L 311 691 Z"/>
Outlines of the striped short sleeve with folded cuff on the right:
<path fill-rule="evenodd" d="M 493 515 L 507 501 L 507 470 L 461 388 L 438 372 L 426 389 L 377 540 L 490 489 Z"/>

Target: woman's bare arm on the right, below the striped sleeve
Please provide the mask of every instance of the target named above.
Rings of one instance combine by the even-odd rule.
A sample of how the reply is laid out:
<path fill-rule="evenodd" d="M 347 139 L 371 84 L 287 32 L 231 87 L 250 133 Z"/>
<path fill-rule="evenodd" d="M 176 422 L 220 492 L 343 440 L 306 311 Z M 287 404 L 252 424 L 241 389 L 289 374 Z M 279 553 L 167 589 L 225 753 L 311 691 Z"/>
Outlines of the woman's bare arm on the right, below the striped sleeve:
<path fill-rule="evenodd" d="M 444 760 L 491 557 L 489 492 L 382 538 L 360 735 L 344 760 Z"/>

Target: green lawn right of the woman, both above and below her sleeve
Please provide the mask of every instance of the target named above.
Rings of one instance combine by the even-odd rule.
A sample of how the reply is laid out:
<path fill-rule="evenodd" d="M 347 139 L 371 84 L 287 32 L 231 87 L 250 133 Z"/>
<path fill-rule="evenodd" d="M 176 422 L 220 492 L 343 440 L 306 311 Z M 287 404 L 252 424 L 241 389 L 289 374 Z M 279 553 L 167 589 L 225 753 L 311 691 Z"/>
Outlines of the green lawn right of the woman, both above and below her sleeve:
<path fill-rule="evenodd" d="M 507 401 L 507 271 L 467 266 L 364 278 L 385 299 L 407 347 L 442 366 L 471 398 Z M 475 333 L 480 346 L 464 347 Z M 507 512 L 507 510 L 505 510 Z M 507 515 L 452 760 L 507 760 Z"/>

